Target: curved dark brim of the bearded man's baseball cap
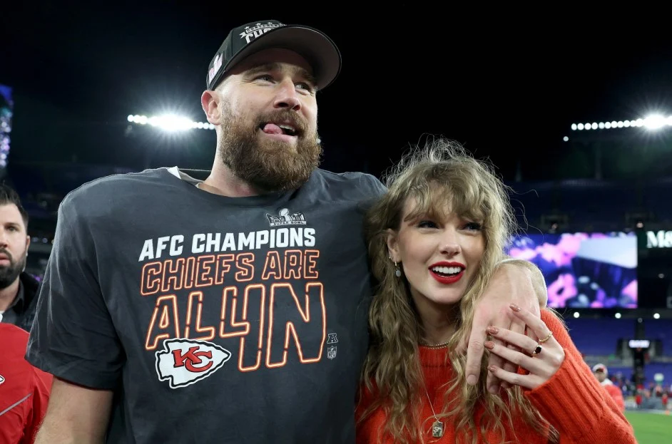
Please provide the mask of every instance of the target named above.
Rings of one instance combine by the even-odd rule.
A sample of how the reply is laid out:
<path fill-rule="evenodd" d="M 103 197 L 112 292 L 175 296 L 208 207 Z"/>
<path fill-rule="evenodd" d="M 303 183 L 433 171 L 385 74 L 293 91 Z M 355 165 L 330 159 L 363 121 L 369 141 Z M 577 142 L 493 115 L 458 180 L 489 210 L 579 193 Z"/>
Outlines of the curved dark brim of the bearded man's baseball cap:
<path fill-rule="evenodd" d="M 287 25 L 268 31 L 245 46 L 226 64 L 221 78 L 244 58 L 268 48 L 289 49 L 305 58 L 312 66 L 318 89 L 329 86 L 340 73 L 341 53 L 331 38 L 308 26 Z"/>

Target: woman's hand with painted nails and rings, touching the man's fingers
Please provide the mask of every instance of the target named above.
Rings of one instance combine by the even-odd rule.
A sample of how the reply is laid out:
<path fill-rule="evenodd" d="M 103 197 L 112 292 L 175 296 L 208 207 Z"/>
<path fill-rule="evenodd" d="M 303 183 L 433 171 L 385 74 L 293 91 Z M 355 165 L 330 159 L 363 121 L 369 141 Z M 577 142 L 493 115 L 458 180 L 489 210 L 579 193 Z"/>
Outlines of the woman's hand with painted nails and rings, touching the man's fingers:
<path fill-rule="evenodd" d="M 565 352 L 544 324 L 544 321 L 541 321 L 538 316 L 521 309 L 515 304 L 511 304 L 511 311 L 526 324 L 529 329 L 528 334 L 532 333 L 531 336 L 536 338 L 537 341 L 524 334 L 490 326 L 487 328 L 488 334 L 509 345 L 518 347 L 521 351 L 494 344 L 493 341 L 487 341 L 484 346 L 491 353 L 497 354 L 504 361 L 515 363 L 528 371 L 529 374 L 512 373 L 494 365 L 488 366 L 488 370 L 502 381 L 524 388 L 537 388 L 558 371 L 564 361 Z M 541 338 L 541 340 L 538 338 Z"/>

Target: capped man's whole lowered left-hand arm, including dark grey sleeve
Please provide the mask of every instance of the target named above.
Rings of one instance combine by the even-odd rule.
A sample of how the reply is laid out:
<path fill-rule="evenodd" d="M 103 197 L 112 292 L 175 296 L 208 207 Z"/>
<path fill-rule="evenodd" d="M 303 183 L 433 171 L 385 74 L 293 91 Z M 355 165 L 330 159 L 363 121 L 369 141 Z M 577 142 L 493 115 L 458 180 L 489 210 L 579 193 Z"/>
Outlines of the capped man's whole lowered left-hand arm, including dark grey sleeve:
<path fill-rule="evenodd" d="M 126 361 L 98 275 L 100 252 L 91 220 L 104 232 L 101 220 L 110 210 L 96 206 L 103 194 L 83 185 L 58 207 L 26 349 L 26 361 L 54 376 L 39 444 L 103 443 L 112 391 Z"/>

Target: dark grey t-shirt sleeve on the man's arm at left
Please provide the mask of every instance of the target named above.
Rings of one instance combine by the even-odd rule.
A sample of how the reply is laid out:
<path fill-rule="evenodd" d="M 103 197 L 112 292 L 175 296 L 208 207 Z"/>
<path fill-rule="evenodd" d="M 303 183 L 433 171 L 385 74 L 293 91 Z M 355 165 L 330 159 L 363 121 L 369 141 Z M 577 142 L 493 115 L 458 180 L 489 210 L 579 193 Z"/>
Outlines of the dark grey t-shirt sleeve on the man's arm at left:
<path fill-rule="evenodd" d="M 58 207 L 26 360 L 71 383 L 110 390 L 125 355 L 98 281 L 95 245 L 108 241 L 94 239 L 87 217 L 91 205 L 73 193 Z"/>

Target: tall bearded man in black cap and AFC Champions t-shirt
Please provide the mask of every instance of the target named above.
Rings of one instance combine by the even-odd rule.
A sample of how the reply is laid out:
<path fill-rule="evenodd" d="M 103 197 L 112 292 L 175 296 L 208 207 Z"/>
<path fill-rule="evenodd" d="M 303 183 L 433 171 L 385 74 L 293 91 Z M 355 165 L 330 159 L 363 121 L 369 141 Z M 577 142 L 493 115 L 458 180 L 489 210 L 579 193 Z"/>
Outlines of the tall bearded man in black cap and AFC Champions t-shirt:
<path fill-rule="evenodd" d="M 26 354 L 55 376 L 37 444 L 355 443 L 362 218 L 385 187 L 318 167 L 317 91 L 340 66 L 316 29 L 239 26 L 200 99 L 212 170 L 103 177 L 66 196 Z M 489 313 L 545 304 L 516 267 L 477 308 L 470 373 L 489 322 L 510 326 Z"/>

